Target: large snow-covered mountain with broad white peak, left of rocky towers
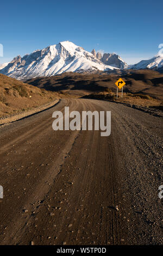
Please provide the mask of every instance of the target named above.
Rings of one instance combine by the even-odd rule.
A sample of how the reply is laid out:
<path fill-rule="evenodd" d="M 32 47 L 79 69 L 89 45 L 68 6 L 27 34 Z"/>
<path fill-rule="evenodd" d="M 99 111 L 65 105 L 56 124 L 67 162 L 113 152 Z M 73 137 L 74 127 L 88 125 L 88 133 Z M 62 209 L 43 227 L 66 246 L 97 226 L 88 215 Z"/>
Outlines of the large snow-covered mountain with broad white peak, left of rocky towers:
<path fill-rule="evenodd" d="M 103 64 L 84 48 L 70 41 L 59 42 L 42 50 L 36 50 L 24 57 L 15 57 L 0 73 L 20 80 L 34 77 L 53 76 L 62 72 L 81 70 L 114 70 Z"/>

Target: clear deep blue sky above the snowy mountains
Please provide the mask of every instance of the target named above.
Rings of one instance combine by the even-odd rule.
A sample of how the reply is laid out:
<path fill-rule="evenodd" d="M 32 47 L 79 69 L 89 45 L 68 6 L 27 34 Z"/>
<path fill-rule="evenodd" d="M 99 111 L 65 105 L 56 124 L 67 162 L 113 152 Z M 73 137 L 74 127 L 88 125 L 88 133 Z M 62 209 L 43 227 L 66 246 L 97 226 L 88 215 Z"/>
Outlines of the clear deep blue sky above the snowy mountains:
<path fill-rule="evenodd" d="M 162 13 L 162 0 L 2 0 L 0 63 L 69 40 L 87 51 L 116 52 L 134 64 L 158 53 Z"/>

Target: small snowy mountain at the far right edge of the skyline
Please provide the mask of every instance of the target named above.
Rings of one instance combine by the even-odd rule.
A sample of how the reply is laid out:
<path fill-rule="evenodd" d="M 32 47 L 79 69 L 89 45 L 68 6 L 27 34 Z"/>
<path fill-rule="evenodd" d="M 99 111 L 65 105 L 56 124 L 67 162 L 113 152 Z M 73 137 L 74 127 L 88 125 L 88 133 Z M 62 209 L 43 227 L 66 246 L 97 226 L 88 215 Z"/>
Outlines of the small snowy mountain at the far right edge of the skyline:
<path fill-rule="evenodd" d="M 163 56 L 156 56 L 152 59 L 141 60 L 141 62 L 133 65 L 131 69 L 160 69 L 163 68 Z"/>

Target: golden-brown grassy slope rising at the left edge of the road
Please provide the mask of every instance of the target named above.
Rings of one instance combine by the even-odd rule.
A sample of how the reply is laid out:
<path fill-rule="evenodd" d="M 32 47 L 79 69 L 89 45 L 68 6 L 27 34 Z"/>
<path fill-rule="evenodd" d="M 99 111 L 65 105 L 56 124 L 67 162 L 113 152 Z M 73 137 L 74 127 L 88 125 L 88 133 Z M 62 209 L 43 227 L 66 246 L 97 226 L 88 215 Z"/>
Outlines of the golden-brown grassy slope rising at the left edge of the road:
<path fill-rule="evenodd" d="M 62 97 L 0 74 L 0 118 L 39 107 Z"/>

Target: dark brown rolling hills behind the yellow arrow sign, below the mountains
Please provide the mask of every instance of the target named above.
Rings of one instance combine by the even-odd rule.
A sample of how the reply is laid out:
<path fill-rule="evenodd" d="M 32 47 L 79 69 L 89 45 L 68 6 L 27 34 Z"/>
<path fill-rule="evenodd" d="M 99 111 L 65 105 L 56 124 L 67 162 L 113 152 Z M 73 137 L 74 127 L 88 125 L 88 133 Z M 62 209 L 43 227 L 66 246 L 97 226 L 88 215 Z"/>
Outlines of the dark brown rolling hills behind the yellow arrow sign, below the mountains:
<path fill-rule="evenodd" d="M 67 92 L 71 95 L 82 96 L 91 92 L 102 92 L 106 88 L 116 92 L 115 82 L 122 77 L 126 82 L 124 92 L 143 93 L 163 99 L 163 74 L 154 70 L 126 70 L 107 74 L 78 74 L 63 73 L 57 76 L 33 78 L 29 84 L 52 90 L 53 92 Z"/>

